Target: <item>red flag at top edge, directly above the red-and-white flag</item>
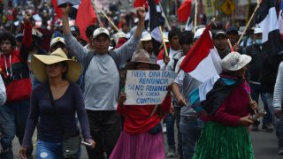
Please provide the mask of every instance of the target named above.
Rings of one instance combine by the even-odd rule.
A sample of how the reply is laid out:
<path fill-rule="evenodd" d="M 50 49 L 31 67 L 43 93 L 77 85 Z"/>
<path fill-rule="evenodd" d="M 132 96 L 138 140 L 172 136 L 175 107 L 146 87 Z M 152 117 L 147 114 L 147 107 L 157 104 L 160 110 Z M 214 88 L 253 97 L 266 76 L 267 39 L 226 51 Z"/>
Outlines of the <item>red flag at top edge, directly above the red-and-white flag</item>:
<path fill-rule="evenodd" d="M 178 9 L 178 19 L 180 22 L 187 22 L 188 16 L 191 13 L 192 0 L 185 0 Z"/>

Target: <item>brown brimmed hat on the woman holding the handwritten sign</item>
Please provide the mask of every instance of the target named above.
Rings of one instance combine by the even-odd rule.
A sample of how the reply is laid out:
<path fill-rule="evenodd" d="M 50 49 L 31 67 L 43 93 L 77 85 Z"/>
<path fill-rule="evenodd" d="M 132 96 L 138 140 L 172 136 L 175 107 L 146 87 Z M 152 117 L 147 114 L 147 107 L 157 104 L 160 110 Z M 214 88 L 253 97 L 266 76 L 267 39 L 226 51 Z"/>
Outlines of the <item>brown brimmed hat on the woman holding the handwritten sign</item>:
<path fill-rule="evenodd" d="M 134 52 L 131 62 L 126 64 L 126 70 L 134 70 L 134 65 L 137 63 L 149 64 L 150 70 L 160 70 L 159 64 L 151 63 L 148 51 L 145 49 L 138 49 Z"/>

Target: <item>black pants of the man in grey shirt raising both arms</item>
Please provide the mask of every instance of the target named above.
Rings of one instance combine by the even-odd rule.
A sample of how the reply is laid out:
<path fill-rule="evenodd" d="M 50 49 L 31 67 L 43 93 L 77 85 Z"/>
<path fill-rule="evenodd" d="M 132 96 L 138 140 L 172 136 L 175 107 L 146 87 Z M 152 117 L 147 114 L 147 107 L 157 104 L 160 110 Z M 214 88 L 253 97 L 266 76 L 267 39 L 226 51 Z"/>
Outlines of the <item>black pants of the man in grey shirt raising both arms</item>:
<path fill-rule="evenodd" d="M 103 152 L 111 155 L 120 134 L 120 117 L 116 110 L 87 110 L 89 128 L 96 148 L 87 148 L 88 158 L 103 159 Z M 107 158 L 108 158 L 107 157 Z"/>

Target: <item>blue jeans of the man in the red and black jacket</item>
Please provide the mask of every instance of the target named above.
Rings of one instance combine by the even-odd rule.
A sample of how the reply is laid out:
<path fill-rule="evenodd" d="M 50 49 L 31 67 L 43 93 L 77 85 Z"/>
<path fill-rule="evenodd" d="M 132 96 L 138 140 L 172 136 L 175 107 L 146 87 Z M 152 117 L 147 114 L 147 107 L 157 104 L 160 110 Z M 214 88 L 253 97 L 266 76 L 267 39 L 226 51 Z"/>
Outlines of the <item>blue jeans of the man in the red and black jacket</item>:
<path fill-rule="evenodd" d="M 0 133 L 3 133 L 3 138 L 1 139 L 3 152 L 0 158 L 13 158 L 11 144 L 15 135 L 18 137 L 19 143 L 22 144 L 29 107 L 29 99 L 19 102 L 6 102 L 0 107 Z M 30 143 L 32 143 L 32 141 L 30 141 Z M 31 144 L 29 148 L 27 152 L 28 157 L 32 154 L 33 145 Z"/>

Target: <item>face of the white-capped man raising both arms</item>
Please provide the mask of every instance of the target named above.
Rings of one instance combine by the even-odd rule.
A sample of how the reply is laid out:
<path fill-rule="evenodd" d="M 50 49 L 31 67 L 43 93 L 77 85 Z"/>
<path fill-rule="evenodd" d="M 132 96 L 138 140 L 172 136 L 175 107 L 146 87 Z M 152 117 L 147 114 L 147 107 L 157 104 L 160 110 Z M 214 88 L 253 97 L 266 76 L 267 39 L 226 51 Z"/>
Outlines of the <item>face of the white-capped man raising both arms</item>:
<path fill-rule="evenodd" d="M 93 39 L 93 46 L 98 54 L 104 54 L 108 52 L 110 39 L 107 34 L 99 34 Z"/>

